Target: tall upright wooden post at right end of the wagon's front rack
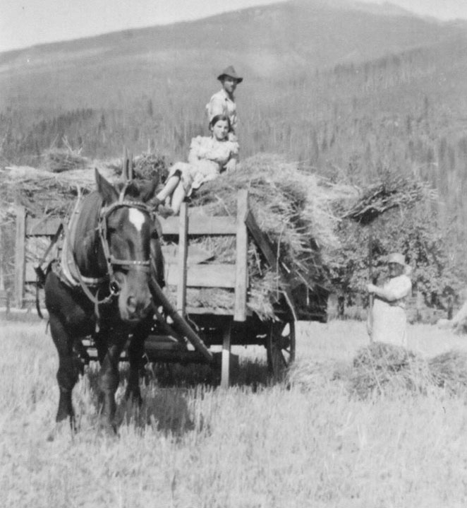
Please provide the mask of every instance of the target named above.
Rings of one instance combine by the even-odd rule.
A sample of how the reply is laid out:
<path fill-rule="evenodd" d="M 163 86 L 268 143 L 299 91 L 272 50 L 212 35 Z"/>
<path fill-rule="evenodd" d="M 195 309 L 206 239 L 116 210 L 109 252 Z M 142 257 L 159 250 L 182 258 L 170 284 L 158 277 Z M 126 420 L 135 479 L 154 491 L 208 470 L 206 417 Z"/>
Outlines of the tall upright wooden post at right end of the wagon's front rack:
<path fill-rule="evenodd" d="M 248 286 L 248 230 L 245 219 L 248 214 L 248 191 L 238 191 L 235 273 L 235 321 L 246 319 L 246 290 Z"/>

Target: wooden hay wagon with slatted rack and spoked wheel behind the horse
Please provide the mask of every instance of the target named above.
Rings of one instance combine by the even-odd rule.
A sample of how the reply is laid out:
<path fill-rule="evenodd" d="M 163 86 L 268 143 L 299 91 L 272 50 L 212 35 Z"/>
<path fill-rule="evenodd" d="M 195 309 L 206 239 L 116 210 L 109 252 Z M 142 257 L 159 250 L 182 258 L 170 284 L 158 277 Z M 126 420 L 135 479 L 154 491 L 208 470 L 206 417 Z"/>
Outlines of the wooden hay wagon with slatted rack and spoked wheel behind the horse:
<path fill-rule="evenodd" d="M 169 301 L 167 290 L 152 283 L 154 326 L 145 341 L 145 354 L 150 362 L 219 362 L 212 346 L 222 346 L 220 363 L 222 385 L 229 384 L 232 345 L 263 345 L 267 365 L 274 379 L 281 379 L 296 354 L 296 321 L 326 321 L 327 292 L 293 278 L 287 267 L 277 259 L 267 235 L 260 229 L 248 205 L 248 191 L 238 191 L 236 218 L 209 216 L 183 203 L 178 217 L 160 220 L 164 243 L 166 286 L 176 291 L 176 303 Z M 17 300 L 24 299 L 24 286 L 35 283 L 32 266 L 24 263 L 25 241 L 39 235 L 56 235 L 57 219 L 40 220 L 19 213 L 18 237 L 23 239 L 17 249 L 23 265 L 17 271 L 20 289 Z M 216 259 L 197 259 L 191 242 L 197 237 L 231 236 L 235 238 L 234 264 L 219 263 Z M 18 238 L 17 237 L 17 238 Z M 274 317 L 260 319 L 248 308 L 248 242 L 255 242 L 267 264 L 276 272 L 280 297 L 274 306 Z M 22 252 L 23 251 L 23 252 Z M 198 256 L 199 257 L 199 256 Z M 20 280 L 19 280 L 20 279 Z M 231 292 L 231 308 L 217 305 L 187 305 L 187 290 L 222 288 Z M 17 291 L 18 293 L 18 291 Z M 21 303 L 23 300 L 21 300 Z M 92 348 L 92 340 L 85 341 Z M 215 348 L 219 349 L 219 348 Z"/>

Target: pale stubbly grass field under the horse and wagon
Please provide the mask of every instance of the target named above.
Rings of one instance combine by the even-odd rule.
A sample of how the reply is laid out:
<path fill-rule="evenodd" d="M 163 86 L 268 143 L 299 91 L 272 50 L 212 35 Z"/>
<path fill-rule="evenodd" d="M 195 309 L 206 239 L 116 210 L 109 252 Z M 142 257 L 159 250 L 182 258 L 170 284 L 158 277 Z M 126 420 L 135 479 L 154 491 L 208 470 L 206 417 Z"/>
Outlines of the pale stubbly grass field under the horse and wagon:
<path fill-rule="evenodd" d="M 462 396 L 433 390 L 360 401 L 319 368 L 306 391 L 153 379 L 139 415 L 120 403 L 120 436 L 111 439 L 95 430 L 91 370 L 75 388 L 80 431 L 64 428 L 47 442 L 58 389 L 44 322 L 2 321 L 0 336 L 2 507 L 466 506 Z M 350 362 L 366 341 L 361 322 L 301 323 L 298 362 Z M 409 343 L 427 356 L 467 344 L 421 325 L 411 326 Z M 240 354 L 241 368 L 260 379 L 262 350 Z"/>

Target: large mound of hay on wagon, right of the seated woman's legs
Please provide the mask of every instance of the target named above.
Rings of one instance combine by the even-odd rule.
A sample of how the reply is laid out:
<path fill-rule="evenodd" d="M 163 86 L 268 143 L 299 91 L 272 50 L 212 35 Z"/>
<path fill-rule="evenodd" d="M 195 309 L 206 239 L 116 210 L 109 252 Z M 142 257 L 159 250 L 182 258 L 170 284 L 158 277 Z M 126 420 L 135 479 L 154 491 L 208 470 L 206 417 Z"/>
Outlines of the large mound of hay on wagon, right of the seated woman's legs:
<path fill-rule="evenodd" d="M 193 203 L 205 207 L 210 215 L 235 216 L 239 189 L 248 189 L 250 206 L 260 228 L 280 237 L 293 256 L 310 252 L 305 238 L 313 237 L 322 248 L 338 244 L 334 233 L 338 218 L 332 204 L 342 198 L 344 187 L 332 186 L 279 155 L 262 154 L 207 182 L 198 190 Z"/>

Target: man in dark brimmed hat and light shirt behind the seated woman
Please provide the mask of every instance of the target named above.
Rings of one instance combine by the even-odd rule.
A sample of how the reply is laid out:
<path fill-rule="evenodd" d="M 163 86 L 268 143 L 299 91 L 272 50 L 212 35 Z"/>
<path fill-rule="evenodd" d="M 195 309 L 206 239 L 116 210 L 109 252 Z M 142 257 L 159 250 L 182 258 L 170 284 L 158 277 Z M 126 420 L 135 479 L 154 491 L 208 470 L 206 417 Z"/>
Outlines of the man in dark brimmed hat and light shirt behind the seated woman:
<path fill-rule="evenodd" d="M 208 122 L 218 114 L 224 114 L 229 117 L 231 129 L 229 132 L 229 141 L 237 141 L 237 107 L 235 104 L 235 98 L 233 92 L 237 88 L 238 83 L 243 81 L 243 78 L 237 75 L 233 66 L 229 65 L 224 71 L 222 71 L 217 79 L 222 83 L 222 89 L 219 92 L 214 93 L 210 102 L 206 105 Z"/>

